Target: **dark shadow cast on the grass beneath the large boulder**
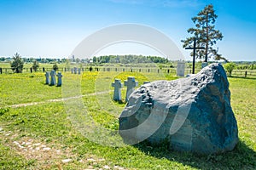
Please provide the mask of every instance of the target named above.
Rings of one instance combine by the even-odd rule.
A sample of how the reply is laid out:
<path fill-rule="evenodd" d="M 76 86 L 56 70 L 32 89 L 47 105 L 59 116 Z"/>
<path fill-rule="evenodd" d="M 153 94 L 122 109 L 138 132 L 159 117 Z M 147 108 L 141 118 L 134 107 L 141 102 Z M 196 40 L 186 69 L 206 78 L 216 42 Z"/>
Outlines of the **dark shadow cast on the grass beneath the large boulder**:
<path fill-rule="evenodd" d="M 147 142 L 136 144 L 139 150 L 145 154 L 167 159 L 169 161 L 178 161 L 184 166 L 207 169 L 255 169 L 256 152 L 249 148 L 241 140 L 232 151 L 218 154 L 202 156 L 190 152 L 178 152 L 170 150 L 167 144 L 152 145 Z"/>

